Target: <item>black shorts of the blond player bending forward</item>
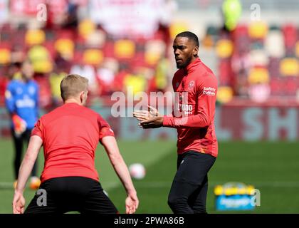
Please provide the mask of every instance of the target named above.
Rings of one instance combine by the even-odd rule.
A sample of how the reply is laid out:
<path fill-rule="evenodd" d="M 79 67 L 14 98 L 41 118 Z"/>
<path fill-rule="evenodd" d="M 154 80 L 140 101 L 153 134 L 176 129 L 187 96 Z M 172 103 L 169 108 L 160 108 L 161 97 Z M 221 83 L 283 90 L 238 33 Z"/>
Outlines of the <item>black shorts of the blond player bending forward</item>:
<path fill-rule="evenodd" d="M 88 177 L 57 177 L 43 182 L 25 213 L 116 214 L 100 182 Z"/>

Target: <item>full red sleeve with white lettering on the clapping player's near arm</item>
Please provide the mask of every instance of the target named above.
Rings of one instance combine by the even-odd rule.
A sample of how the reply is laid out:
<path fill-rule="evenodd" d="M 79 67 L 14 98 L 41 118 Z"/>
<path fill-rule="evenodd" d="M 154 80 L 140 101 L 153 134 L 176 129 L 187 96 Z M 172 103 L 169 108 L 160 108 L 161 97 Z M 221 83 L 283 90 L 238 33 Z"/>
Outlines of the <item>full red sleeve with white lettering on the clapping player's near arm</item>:
<path fill-rule="evenodd" d="M 207 74 L 197 85 L 197 114 L 175 118 L 164 116 L 163 126 L 169 128 L 204 128 L 211 125 L 216 106 L 217 80 Z"/>

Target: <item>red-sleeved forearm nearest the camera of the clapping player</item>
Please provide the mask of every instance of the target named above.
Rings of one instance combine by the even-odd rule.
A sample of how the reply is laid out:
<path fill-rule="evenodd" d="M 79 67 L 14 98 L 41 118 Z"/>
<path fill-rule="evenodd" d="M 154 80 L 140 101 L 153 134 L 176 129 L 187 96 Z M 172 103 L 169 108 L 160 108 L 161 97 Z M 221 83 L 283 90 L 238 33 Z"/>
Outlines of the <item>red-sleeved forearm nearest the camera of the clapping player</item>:
<path fill-rule="evenodd" d="M 168 128 L 205 128 L 211 125 L 211 118 L 203 114 L 191 115 L 184 118 L 164 116 L 163 127 Z"/>

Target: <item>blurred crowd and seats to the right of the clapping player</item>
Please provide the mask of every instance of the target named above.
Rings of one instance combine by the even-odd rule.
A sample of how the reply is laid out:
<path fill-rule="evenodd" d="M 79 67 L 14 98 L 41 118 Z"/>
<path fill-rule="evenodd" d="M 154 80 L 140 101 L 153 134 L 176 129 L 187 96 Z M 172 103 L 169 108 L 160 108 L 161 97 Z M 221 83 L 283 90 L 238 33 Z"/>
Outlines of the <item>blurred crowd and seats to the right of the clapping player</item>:
<path fill-rule="evenodd" d="M 253 21 L 238 24 L 230 33 L 210 26 L 202 43 L 216 48 L 220 102 L 233 96 L 259 103 L 298 98 L 298 26 Z"/>

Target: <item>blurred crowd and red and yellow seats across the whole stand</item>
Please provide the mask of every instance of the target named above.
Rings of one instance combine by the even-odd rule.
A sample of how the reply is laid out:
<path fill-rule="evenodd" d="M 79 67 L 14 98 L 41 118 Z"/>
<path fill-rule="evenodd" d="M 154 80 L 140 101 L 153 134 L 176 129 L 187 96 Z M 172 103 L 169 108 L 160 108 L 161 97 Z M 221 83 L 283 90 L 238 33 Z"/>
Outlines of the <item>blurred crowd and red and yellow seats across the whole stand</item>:
<path fill-rule="evenodd" d="M 89 79 L 91 98 L 110 97 L 128 86 L 134 93 L 172 90 L 172 38 L 179 26 L 160 25 L 151 38 L 115 38 L 89 19 L 78 20 L 74 11 L 60 26 L 51 18 L 41 28 L 1 25 L 0 105 L 6 84 L 20 77 L 26 58 L 40 86 L 41 107 L 61 103 L 59 83 L 68 73 Z M 216 51 L 219 102 L 299 95 L 298 26 L 253 21 L 231 32 L 207 26 L 200 43 Z"/>

